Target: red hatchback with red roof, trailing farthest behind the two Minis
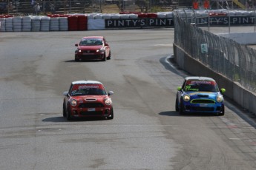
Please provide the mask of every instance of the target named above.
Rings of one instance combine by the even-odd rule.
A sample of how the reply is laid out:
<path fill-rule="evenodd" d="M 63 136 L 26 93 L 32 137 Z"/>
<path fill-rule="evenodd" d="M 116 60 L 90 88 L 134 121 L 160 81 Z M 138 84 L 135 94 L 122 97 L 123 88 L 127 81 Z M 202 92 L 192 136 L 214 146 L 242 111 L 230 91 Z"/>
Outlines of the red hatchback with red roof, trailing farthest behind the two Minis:
<path fill-rule="evenodd" d="M 75 46 L 75 61 L 111 59 L 111 48 L 103 36 L 83 37 Z"/>

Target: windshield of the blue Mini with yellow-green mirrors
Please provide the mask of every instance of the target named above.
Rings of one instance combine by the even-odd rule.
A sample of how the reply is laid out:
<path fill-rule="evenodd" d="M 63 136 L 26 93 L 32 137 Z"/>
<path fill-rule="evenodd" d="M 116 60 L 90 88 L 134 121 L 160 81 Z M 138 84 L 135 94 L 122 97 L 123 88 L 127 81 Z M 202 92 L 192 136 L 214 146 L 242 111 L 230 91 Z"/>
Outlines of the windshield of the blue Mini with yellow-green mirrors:
<path fill-rule="evenodd" d="M 218 92 L 214 81 L 188 81 L 183 89 L 186 92 Z"/>

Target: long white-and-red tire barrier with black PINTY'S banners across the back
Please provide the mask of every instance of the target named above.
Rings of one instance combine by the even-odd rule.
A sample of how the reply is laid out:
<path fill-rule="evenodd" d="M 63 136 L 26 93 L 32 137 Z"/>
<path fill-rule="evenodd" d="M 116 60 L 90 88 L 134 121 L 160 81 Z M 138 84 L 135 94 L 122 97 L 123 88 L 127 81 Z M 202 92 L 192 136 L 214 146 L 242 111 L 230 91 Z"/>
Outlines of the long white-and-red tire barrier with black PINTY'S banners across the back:
<path fill-rule="evenodd" d="M 47 16 L 0 16 L 1 32 L 83 31 L 145 27 L 174 27 L 174 13 L 200 27 L 254 25 L 255 12 L 241 10 L 174 10 L 158 13 L 52 14 Z"/>

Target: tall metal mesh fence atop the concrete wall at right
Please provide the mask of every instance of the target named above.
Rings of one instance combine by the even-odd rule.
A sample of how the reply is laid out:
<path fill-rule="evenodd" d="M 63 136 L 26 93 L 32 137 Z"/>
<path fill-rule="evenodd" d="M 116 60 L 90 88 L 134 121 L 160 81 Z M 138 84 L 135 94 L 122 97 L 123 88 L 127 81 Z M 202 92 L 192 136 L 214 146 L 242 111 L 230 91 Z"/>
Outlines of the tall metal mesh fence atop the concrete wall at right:
<path fill-rule="evenodd" d="M 174 15 L 174 43 L 188 55 L 201 61 L 246 89 L 256 92 L 256 50 L 194 27 Z M 189 66 L 188 66 L 189 67 Z"/>

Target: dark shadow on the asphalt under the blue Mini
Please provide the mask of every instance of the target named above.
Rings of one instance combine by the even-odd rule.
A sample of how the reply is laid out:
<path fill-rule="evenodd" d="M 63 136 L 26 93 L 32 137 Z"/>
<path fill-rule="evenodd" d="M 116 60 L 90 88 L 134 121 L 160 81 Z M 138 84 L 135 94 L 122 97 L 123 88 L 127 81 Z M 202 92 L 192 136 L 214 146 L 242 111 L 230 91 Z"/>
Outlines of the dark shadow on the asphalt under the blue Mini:
<path fill-rule="evenodd" d="M 183 115 L 180 115 L 179 112 L 176 111 L 165 111 L 165 112 L 160 112 L 159 115 L 162 116 L 189 116 L 189 117 L 215 117 L 218 116 L 215 113 L 184 113 Z"/>

